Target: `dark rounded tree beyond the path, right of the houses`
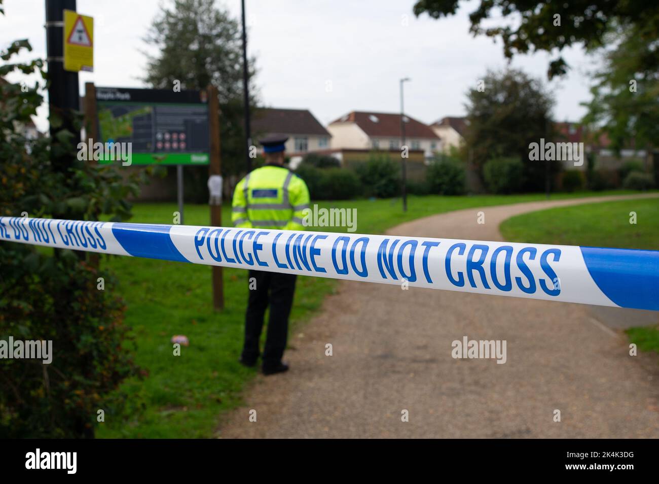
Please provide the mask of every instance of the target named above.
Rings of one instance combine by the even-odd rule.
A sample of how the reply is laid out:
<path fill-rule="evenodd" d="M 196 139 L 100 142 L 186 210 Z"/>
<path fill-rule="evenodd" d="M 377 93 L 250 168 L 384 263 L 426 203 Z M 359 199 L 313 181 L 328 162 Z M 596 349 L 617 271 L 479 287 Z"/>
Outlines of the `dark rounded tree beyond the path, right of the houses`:
<path fill-rule="evenodd" d="M 529 144 L 551 139 L 551 111 L 554 100 L 538 79 L 522 71 L 488 71 L 485 90 L 467 92 L 465 136 L 473 162 L 480 169 L 492 158 L 514 157 L 525 166 L 525 189 L 544 187 L 545 163 L 529 160 Z M 551 171 L 558 164 L 552 162 Z"/>

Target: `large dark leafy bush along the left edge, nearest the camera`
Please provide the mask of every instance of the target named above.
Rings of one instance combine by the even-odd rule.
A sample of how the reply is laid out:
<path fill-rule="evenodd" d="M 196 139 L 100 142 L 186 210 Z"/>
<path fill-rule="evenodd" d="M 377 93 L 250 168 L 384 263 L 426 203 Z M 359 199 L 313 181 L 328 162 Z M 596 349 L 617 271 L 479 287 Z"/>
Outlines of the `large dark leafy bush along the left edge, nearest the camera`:
<path fill-rule="evenodd" d="M 31 49 L 14 42 L 0 58 L 8 61 L 23 47 Z M 44 75 L 37 59 L 2 65 L 0 76 L 14 70 Z M 53 138 L 29 139 L 19 129 L 43 102 L 38 87 L 0 84 L 0 216 L 128 218 L 126 199 L 137 193 L 142 172 L 122 179 L 112 165 L 78 161 L 79 117 L 51 114 L 51 127 L 61 128 Z M 93 437 L 98 409 L 117 411 L 110 394 L 125 399 L 112 390 L 138 373 L 124 346 L 123 302 L 97 288 L 98 278 L 112 287 L 111 274 L 85 253 L 11 241 L 0 241 L 0 268 L 0 339 L 52 341 L 50 364 L 0 359 L 0 435 Z"/>

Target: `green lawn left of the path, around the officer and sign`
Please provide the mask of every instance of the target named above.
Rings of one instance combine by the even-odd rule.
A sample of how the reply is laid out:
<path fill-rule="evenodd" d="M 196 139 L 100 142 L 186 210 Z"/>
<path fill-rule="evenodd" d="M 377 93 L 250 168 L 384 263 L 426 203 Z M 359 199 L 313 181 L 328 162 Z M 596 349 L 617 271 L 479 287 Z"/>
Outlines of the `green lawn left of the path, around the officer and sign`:
<path fill-rule="evenodd" d="M 571 198 L 610 193 L 573 193 Z M 633 193 L 633 192 L 627 192 Z M 382 233 L 408 220 L 477 206 L 544 200 L 544 195 L 478 197 L 409 197 L 403 214 L 400 200 L 321 202 L 323 207 L 357 208 L 358 233 Z M 130 222 L 171 224 L 176 204 L 136 204 Z M 230 207 L 223 221 L 230 225 Z M 208 206 L 185 206 L 187 225 L 208 225 Z M 643 220 L 643 219 L 640 219 Z M 345 231 L 344 227 L 318 227 Z M 127 303 L 126 322 L 132 327 L 136 363 L 144 377 L 131 378 L 121 387 L 131 409 L 128 419 L 106 412 L 98 437 L 194 438 L 213 437 L 221 413 L 241 403 L 244 385 L 256 374 L 237 362 L 243 342 L 247 297 L 246 272 L 224 269 L 225 310 L 212 310 L 211 269 L 131 257 L 107 257 L 102 264 L 117 275 L 116 290 Z M 320 308 L 335 280 L 301 277 L 293 307 L 293 326 L 303 324 Z M 190 346 L 173 356 L 170 339 L 185 334 Z"/>

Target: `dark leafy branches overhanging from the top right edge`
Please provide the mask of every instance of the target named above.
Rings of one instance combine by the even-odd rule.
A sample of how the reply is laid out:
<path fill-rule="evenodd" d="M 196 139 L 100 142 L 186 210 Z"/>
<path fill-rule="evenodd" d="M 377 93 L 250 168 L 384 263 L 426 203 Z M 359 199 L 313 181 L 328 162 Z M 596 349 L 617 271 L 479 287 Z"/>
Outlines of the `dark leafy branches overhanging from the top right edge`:
<path fill-rule="evenodd" d="M 432 18 L 455 15 L 460 0 L 418 0 L 416 16 Z M 496 17 L 497 24 L 492 26 Z M 507 59 L 534 51 L 560 53 L 565 47 L 583 44 L 588 51 L 604 45 L 606 33 L 616 25 L 644 26 L 650 42 L 659 38 L 659 3 L 647 0 L 544 2 L 534 0 L 481 0 L 469 15 L 474 36 L 503 41 Z M 483 24 L 488 26 L 484 26 Z M 550 62 L 548 76 L 563 75 L 569 66 L 558 55 Z"/>

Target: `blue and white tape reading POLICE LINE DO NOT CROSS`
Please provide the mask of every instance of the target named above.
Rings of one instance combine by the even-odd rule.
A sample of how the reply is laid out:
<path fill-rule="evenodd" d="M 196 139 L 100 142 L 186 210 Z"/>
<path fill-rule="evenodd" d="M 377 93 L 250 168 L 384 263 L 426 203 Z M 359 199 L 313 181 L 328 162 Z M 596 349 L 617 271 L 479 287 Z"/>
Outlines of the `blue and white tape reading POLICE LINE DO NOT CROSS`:
<path fill-rule="evenodd" d="M 659 311 L 659 251 L 0 217 L 0 241 Z"/>

